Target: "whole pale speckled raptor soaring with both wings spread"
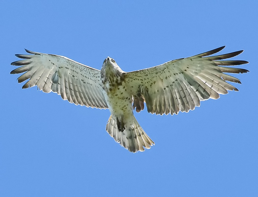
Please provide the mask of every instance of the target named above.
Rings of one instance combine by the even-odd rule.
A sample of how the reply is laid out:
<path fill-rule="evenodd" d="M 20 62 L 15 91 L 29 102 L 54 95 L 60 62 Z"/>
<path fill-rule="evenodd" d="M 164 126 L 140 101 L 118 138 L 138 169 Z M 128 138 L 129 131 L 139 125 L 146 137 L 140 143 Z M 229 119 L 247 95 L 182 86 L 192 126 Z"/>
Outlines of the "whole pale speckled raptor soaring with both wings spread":
<path fill-rule="evenodd" d="M 11 74 L 23 73 L 19 83 L 29 79 L 22 88 L 37 86 L 76 105 L 109 109 L 107 132 L 135 153 L 154 145 L 133 114 L 134 110 L 143 110 L 144 102 L 149 113 L 173 115 L 194 110 L 200 101 L 218 99 L 228 90 L 238 91 L 226 81 L 240 84 L 240 80 L 225 73 L 246 73 L 246 69 L 228 66 L 248 62 L 222 60 L 237 56 L 243 50 L 211 56 L 224 47 L 132 72 L 123 71 L 111 57 L 98 70 L 64 56 L 25 49 L 29 54 L 15 55 L 22 60 L 11 63 L 20 66 Z"/>

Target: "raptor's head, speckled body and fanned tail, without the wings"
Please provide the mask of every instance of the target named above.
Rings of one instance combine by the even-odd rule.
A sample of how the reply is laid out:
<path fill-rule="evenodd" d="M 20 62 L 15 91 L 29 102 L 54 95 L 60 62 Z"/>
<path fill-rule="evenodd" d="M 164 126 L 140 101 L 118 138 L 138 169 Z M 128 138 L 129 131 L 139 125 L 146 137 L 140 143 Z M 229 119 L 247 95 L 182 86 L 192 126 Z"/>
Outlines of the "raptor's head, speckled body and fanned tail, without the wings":
<path fill-rule="evenodd" d="M 142 130 L 133 115 L 132 92 L 125 81 L 125 72 L 108 57 L 101 68 L 103 95 L 111 116 L 106 130 L 117 142 L 132 152 L 144 151 L 154 142 Z"/>

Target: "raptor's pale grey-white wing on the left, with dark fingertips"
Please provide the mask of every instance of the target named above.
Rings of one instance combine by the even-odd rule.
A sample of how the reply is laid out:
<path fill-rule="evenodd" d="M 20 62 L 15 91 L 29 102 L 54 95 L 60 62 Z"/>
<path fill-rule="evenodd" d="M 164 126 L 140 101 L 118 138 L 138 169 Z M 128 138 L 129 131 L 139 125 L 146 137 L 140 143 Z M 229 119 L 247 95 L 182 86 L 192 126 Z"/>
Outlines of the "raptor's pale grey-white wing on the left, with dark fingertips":
<path fill-rule="evenodd" d="M 26 50 L 26 49 L 25 49 Z M 100 70 L 80 64 L 67 57 L 26 50 L 34 55 L 15 56 L 23 58 L 11 63 L 21 66 L 11 74 L 23 73 L 18 82 L 29 79 L 22 88 L 38 86 L 43 92 L 55 92 L 76 105 L 106 109 L 102 93 Z"/>

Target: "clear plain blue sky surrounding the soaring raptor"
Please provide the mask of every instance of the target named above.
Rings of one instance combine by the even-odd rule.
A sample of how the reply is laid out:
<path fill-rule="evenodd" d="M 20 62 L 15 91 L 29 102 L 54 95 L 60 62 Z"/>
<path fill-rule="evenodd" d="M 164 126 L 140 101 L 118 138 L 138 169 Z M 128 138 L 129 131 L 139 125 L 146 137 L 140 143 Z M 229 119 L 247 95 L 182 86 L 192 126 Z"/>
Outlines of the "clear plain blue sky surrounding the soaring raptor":
<path fill-rule="evenodd" d="M 0 6 L 1 196 L 257 196 L 257 1 L 4 1 Z M 179 115 L 135 116 L 155 146 L 130 153 L 109 110 L 22 89 L 24 48 L 124 71 L 226 45 L 250 63 L 239 92 Z"/>

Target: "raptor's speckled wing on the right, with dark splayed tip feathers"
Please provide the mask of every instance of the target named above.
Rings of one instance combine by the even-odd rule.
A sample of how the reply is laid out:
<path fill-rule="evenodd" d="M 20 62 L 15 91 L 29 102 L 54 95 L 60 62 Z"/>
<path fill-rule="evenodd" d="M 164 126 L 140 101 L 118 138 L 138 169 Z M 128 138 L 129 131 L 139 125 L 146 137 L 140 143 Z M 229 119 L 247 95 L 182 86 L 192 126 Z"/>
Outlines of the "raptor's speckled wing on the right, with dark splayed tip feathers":
<path fill-rule="evenodd" d="M 225 47 L 225 46 L 224 46 Z M 200 101 L 218 99 L 219 94 L 238 89 L 226 81 L 241 83 L 239 79 L 224 73 L 246 73 L 248 70 L 224 67 L 248 63 L 243 60 L 222 60 L 239 55 L 243 51 L 209 56 L 220 47 L 188 58 L 176 59 L 148 69 L 127 72 L 125 80 L 133 94 L 136 111 L 144 108 L 156 114 L 178 114 L 200 106 Z M 208 56 L 208 57 L 205 57 Z"/>

